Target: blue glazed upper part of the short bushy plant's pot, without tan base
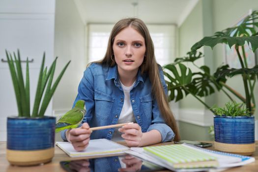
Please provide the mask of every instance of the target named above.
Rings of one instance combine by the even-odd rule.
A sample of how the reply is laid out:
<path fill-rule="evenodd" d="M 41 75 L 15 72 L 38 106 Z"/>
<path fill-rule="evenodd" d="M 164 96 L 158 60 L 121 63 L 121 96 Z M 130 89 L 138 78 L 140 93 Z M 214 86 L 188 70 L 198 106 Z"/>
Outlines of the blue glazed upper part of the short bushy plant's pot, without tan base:
<path fill-rule="evenodd" d="M 214 116 L 215 142 L 231 144 L 255 143 L 254 116 Z"/>

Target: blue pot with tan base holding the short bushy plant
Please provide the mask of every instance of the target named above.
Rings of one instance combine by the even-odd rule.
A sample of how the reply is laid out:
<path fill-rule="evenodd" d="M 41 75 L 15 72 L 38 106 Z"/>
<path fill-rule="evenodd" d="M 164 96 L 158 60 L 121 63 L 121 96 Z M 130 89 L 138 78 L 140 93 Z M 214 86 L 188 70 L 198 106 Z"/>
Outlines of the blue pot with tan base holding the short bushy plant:
<path fill-rule="evenodd" d="M 216 150 L 252 155 L 256 150 L 254 116 L 214 116 Z"/>

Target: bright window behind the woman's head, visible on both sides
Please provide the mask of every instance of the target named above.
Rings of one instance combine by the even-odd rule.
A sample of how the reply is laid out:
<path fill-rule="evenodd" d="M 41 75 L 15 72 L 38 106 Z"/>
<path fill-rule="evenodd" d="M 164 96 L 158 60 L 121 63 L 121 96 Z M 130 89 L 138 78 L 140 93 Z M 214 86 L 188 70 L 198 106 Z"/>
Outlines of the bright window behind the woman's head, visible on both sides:
<path fill-rule="evenodd" d="M 105 56 L 113 24 L 88 24 L 88 62 Z M 155 48 L 155 57 L 160 65 L 170 63 L 175 57 L 175 26 L 147 25 Z"/>

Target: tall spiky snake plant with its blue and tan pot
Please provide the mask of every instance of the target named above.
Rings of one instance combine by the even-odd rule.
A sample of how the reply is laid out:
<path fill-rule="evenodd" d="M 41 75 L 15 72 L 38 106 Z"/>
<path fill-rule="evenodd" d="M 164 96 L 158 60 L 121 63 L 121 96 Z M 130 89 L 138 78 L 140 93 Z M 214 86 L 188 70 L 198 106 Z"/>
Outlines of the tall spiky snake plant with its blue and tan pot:
<path fill-rule="evenodd" d="M 14 86 L 18 116 L 7 118 L 6 158 L 12 165 L 30 166 L 47 163 L 54 156 L 56 117 L 44 116 L 48 104 L 70 61 L 53 83 L 57 58 L 47 69 L 43 55 L 38 77 L 34 106 L 30 111 L 29 60 L 26 62 L 24 80 L 21 57 L 18 50 L 13 56 L 6 52 Z"/>

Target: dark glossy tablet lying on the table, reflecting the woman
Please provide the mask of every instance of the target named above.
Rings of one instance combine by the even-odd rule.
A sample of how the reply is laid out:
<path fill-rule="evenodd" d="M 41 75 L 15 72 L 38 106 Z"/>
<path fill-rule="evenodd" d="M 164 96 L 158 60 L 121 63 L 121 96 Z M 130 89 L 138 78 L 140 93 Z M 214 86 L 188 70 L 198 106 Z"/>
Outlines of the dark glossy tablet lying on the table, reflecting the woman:
<path fill-rule="evenodd" d="M 66 172 L 154 172 L 164 170 L 156 164 L 140 158 L 125 155 L 94 159 L 60 161 Z"/>

